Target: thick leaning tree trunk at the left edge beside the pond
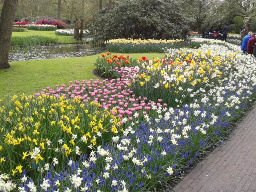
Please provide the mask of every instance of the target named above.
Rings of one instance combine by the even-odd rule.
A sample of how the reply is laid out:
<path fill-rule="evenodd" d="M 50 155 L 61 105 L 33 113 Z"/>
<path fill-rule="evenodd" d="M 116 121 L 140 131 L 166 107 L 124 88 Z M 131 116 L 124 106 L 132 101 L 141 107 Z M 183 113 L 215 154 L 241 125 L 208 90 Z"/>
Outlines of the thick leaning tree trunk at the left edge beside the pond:
<path fill-rule="evenodd" d="M 0 69 L 10 68 L 8 64 L 12 27 L 18 0 L 5 0 L 0 22 Z"/>

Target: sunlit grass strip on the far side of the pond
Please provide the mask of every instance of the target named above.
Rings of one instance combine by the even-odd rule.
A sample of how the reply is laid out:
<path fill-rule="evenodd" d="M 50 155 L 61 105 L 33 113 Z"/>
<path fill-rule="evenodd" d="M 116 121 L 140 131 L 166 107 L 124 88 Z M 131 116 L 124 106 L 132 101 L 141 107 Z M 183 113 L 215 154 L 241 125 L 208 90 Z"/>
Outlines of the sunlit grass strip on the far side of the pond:
<path fill-rule="evenodd" d="M 74 43 L 79 42 L 74 39 L 73 36 L 59 36 L 55 35 L 54 31 L 33 31 L 28 30 L 25 32 L 12 32 L 12 37 L 17 36 L 47 36 L 52 38 L 58 38 L 59 43 Z"/>

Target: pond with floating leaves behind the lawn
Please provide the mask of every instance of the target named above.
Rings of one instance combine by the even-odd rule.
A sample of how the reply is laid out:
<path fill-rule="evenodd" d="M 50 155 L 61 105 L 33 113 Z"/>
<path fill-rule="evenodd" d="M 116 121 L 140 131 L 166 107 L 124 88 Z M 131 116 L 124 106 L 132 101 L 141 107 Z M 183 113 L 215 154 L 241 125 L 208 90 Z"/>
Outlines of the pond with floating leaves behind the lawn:
<path fill-rule="evenodd" d="M 82 57 L 99 54 L 106 48 L 95 47 L 92 44 L 52 44 L 38 46 L 12 46 L 9 52 L 9 62 Z"/>

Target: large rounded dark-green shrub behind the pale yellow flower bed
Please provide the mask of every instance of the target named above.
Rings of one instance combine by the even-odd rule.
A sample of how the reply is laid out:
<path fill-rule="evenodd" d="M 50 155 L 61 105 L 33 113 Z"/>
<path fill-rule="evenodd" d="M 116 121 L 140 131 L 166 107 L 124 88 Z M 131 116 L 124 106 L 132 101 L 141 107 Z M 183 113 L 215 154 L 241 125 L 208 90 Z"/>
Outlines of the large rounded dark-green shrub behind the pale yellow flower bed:
<path fill-rule="evenodd" d="M 92 25 L 94 35 L 111 38 L 184 38 L 188 26 L 174 0 L 117 0 L 101 11 Z"/>

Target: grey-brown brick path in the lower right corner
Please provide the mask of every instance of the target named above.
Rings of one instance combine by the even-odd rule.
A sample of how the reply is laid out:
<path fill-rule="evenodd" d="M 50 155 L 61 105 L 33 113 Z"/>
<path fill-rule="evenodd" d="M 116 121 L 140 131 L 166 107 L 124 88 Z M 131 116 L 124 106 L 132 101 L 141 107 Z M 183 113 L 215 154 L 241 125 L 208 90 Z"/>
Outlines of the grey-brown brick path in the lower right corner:
<path fill-rule="evenodd" d="M 256 192 L 256 106 L 171 192 Z"/>

